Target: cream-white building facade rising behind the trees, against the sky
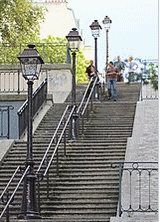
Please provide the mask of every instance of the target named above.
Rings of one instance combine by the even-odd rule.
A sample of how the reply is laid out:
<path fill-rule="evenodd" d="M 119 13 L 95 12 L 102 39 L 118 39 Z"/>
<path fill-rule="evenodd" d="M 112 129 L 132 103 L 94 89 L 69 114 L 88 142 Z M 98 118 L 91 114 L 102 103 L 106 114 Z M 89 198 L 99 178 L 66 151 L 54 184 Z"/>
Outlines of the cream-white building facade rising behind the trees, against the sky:
<path fill-rule="evenodd" d="M 49 35 L 65 38 L 72 28 L 77 28 L 83 39 L 80 20 L 76 19 L 73 9 L 68 8 L 67 0 L 41 0 L 36 3 L 46 9 L 45 21 L 40 24 L 41 39 L 48 38 Z M 86 59 L 93 59 L 93 49 L 85 45 L 85 41 L 82 42 L 81 49 Z"/>

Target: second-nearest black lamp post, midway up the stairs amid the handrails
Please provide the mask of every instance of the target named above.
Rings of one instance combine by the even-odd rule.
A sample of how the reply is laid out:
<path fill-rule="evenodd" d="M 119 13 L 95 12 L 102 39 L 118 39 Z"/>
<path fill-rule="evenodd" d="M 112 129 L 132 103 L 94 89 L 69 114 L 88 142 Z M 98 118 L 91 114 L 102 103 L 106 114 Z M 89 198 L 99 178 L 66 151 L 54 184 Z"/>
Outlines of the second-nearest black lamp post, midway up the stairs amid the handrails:
<path fill-rule="evenodd" d="M 72 107 L 73 107 L 74 105 L 76 105 L 76 78 L 75 78 L 76 52 L 79 50 L 82 38 L 79 35 L 76 28 L 73 28 L 66 36 L 66 38 L 68 40 L 69 50 L 72 53 L 72 59 L 73 59 L 72 63 Z M 75 140 L 78 137 L 76 120 L 77 120 L 77 115 L 75 110 L 71 120 L 71 139 L 73 140 Z"/>

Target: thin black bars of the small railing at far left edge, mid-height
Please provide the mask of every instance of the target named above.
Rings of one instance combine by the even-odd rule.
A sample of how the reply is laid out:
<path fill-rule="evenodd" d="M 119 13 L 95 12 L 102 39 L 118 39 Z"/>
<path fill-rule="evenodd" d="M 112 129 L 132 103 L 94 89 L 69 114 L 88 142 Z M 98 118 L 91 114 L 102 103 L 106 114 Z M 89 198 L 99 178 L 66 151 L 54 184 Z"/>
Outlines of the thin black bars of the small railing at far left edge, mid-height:
<path fill-rule="evenodd" d="M 13 110 L 14 107 L 12 105 L 2 105 L 0 106 L 0 114 L 1 114 L 1 135 L 0 137 L 2 138 L 10 138 L 10 110 Z M 7 134 L 4 135 L 4 125 L 3 125 L 3 121 L 4 121 L 4 112 L 7 112 Z"/>

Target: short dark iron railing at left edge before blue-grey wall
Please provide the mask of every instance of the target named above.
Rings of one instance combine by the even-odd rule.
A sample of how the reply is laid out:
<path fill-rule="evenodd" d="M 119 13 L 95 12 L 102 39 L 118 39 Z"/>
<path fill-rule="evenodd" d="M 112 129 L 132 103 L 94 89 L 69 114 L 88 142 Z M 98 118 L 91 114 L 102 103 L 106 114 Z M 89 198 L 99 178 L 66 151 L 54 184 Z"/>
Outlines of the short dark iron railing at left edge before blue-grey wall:
<path fill-rule="evenodd" d="M 0 106 L 0 138 L 10 139 L 10 110 L 11 105 Z"/>

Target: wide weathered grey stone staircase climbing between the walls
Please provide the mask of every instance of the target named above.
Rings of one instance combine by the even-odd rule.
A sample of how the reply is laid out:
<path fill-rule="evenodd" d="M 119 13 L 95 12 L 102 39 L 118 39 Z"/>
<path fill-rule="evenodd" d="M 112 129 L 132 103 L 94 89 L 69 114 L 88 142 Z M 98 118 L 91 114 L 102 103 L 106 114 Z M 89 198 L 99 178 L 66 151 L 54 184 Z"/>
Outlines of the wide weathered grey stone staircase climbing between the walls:
<path fill-rule="evenodd" d="M 77 87 L 77 103 L 86 86 Z M 117 84 L 118 100 L 106 97 L 94 103 L 85 133 L 75 142 L 67 143 L 67 155 L 61 147 L 59 176 L 55 165 L 50 170 L 50 199 L 46 198 L 46 180 L 41 184 L 41 216 L 38 221 L 105 222 L 116 215 L 118 203 L 118 170 L 112 161 L 124 160 L 127 138 L 132 135 L 139 85 Z M 37 169 L 48 143 L 70 101 L 54 104 L 47 112 L 33 139 L 33 158 Z M 80 126 L 81 127 L 81 126 Z M 24 166 L 26 143 L 16 141 L 0 166 L 0 193 L 18 165 Z M 15 181 L 16 183 L 16 181 Z M 12 191 L 12 189 L 11 189 Z M 10 206 L 11 221 L 17 221 L 22 198 L 22 186 Z M 33 221 L 33 220 L 32 220 Z"/>

